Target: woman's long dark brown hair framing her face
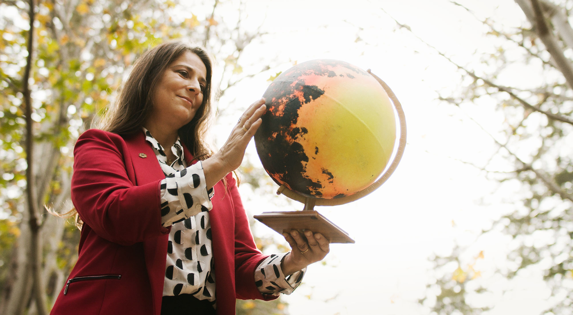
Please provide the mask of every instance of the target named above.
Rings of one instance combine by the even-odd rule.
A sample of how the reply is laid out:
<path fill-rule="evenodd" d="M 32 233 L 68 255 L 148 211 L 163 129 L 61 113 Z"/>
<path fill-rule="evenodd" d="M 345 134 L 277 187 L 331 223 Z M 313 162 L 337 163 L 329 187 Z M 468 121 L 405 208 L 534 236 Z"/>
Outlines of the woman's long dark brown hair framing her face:
<path fill-rule="evenodd" d="M 211 116 L 211 60 L 205 50 L 192 46 L 185 41 L 172 40 L 147 50 L 135 62 L 131 74 L 119 90 L 115 104 L 108 109 L 99 124 L 99 128 L 125 135 L 141 131 L 143 122 L 153 108 L 153 93 L 161 75 L 171 62 L 183 53 L 196 54 L 207 69 L 206 86 L 203 92 L 203 103 L 195 117 L 179 128 L 179 137 L 193 154 L 195 159 L 205 160 L 211 156 L 209 145 L 205 141 L 207 127 Z"/>

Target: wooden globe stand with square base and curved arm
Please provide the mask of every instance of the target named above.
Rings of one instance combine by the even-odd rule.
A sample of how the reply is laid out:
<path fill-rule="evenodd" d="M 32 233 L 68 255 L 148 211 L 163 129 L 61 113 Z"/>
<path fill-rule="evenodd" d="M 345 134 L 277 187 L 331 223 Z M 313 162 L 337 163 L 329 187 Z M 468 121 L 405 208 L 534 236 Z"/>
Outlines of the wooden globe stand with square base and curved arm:
<path fill-rule="evenodd" d="M 266 226 L 270 227 L 278 233 L 283 233 L 290 230 L 298 230 L 303 232 L 305 230 L 311 230 L 315 233 L 323 234 L 331 243 L 354 243 L 354 239 L 350 238 L 348 233 L 340 229 L 334 223 L 330 222 L 319 212 L 314 210 L 315 206 L 338 206 L 340 204 L 353 202 L 370 194 L 372 191 L 378 189 L 388 178 L 393 174 L 394 170 L 398 166 L 398 163 L 402 159 L 404 149 L 406 147 L 406 117 L 402 109 L 402 105 L 398 101 L 398 98 L 390 89 L 390 86 L 386 82 L 382 81 L 374 73 L 367 71 L 373 76 L 376 81 L 382 85 L 384 91 L 390 97 L 396 110 L 399 123 L 400 123 L 400 137 L 398 140 L 398 148 L 394 154 L 394 159 L 386 171 L 372 183 L 370 186 L 364 188 L 361 191 L 356 192 L 350 196 L 344 196 L 342 198 L 334 199 L 323 199 L 323 198 L 313 198 L 299 194 L 298 192 L 289 190 L 284 185 L 281 185 L 277 190 L 277 195 L 285 195 L 288 198 L 297 200 L 304 203 L 304 208 L 301 211 L 275 211 L 275 212 L 263 212 L 260 215 L 254 215 L 254 218 L 264 223 Z"/>

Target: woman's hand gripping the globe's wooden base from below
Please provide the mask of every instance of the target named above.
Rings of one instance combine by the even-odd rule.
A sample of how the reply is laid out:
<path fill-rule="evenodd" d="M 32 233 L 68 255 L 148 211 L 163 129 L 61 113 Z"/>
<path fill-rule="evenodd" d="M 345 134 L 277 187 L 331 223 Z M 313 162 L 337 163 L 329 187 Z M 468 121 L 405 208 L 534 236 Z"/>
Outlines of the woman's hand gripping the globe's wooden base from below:
<path fill-rule="evenodd" d="M 291 230 L 291 233 L 282 233 L 286 242 L 291 245 L 291 254 L 282 260 L 281 269 L 285 275 L 293 274 L 313 262 L 321 261 L 329 251 L 329 241 L 320 233 Z"/>

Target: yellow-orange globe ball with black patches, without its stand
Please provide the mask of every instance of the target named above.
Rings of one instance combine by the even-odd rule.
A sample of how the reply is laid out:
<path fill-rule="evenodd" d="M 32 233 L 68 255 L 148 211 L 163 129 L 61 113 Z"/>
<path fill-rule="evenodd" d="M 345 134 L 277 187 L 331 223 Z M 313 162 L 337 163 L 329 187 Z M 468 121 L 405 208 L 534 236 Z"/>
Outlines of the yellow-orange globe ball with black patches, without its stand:
<path fill-rule="evenodd" d="M 363 190 L 384 171 L 396 119 L 388 94 L 368 72 L 311 60 L 281 73 L 263 97 L 267 111 L 254 139 L 277 184 L 332 199 Z"/>

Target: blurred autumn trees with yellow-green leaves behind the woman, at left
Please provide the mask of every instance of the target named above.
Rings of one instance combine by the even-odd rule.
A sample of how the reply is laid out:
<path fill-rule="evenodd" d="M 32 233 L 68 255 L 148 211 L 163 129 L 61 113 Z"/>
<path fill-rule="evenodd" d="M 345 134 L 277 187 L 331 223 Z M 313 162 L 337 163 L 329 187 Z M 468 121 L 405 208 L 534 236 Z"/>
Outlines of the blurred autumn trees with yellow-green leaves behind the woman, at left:
<path fill-rule="evenodd" d="M 73 144 L 113 101 L 121 78 L 140 53 L 170 38 L 203 44 L 215 60 L 225 61 L 215 67 L 220 69 L 214 76 L 217 100 L 272 62 L 253 65 L 242 60 L 245 49 L 264 38 L 260 29 L 242 23 L 242 3 L 206 0 L 192 8 L 170 0 L 31 4 L 0 2 L 0 313 L 10 315 L 49 310 L 77 259 L 79 231 L 72 220 L 49 215 L 45 208 L 60 213 L 72 208 Z M 191 14 L 181 17 L 180 11 Z M 28 38 L 33 39 L 29 47 Z M 27 57 L 33 61 L 30 69 Z M 26 120 L 32 121 L 30 137 Z M 26 144 L 33 144 L 33 155 L 26 155 Z M 26 178 L 30 174 L 32 180 Z M 25 195 L 26 187 L 33 188 L 31 198 Z M 26 200 L 35 202 L 26 206 Z M 32 257 L 29 242 L 33 230 L 28 222 L 34 217 L 41 260 Z M 33 263 L 39 278 L 28 272 Z M 34 285 L 41 288 L 35 299 Z M 278 314 L 285 308 L 280 301 L 269 305 Z"/>

